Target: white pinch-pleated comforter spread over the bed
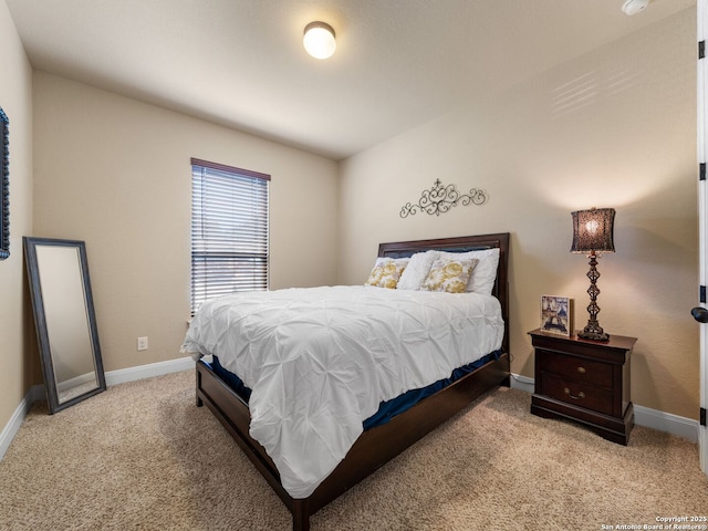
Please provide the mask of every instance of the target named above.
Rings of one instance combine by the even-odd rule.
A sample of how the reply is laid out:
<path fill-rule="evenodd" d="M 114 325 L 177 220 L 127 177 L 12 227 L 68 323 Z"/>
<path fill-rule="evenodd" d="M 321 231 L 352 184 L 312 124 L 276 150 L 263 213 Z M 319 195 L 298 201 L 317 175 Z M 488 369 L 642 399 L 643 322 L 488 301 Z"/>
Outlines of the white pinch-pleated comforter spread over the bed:
<path fill-rule="evenodd" d="M 325 287 L 214 299 L 183 352 L 217 355 L 251 388 L 250 435 L 284 489 L 306 498 L 381 402 L 447 378 L 501 346 L 493 296 Z"/>

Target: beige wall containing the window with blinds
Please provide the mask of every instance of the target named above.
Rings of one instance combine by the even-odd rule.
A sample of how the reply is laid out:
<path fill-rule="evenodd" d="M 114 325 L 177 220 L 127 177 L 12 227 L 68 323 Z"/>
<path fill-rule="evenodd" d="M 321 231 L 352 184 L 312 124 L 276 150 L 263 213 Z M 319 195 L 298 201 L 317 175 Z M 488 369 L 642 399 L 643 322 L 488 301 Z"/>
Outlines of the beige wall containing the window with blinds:
<path fill-rule="evenodd" d="M 271 175 L 271 288 L 336 280 L 334 162 L 35 72 L 34 236 L 86 241 L 106 371 L 181 356 L 190 157 Z"/>

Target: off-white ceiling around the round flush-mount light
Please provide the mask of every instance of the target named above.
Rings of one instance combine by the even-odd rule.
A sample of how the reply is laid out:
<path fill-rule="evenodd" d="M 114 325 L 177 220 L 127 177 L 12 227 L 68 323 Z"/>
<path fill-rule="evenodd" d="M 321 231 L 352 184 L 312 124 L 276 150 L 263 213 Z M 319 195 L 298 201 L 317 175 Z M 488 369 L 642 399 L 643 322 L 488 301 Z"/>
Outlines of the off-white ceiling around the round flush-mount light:
<path fill-rule="evenodd" d="M 684 9 L 653 0 L 6 0 L 33 67 L 341 159 Z M 337 35 L 329 60 L 308 22 Z"/>

